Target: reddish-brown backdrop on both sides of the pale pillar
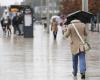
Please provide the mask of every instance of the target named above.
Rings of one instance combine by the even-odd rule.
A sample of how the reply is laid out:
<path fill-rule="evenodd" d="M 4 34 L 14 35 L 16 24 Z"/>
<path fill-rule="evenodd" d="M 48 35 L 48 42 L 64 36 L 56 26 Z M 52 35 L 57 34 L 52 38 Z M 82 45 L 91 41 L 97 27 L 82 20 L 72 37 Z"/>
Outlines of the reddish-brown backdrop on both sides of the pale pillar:
<path fill-rule="evenodd" d="M 60 12 L 69 14 L 71 12 L 82 10 L 82 0 L 61 0 Z M 92 13 L 100 11 L 100 0 L 88 0 L 88 10 Z"/>

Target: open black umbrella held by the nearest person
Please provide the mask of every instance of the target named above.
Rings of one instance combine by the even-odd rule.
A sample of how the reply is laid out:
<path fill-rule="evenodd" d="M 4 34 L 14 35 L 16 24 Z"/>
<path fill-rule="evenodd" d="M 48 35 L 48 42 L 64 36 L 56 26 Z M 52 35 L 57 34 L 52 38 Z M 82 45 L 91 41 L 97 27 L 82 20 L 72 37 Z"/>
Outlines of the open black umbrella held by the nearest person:
<path fill-rule="evenodd" d="M 74 19 L 78 19 L 83 23 L 89 23 L 93 16 L 94 15 L 90 12 L 76 11 L 67 16 L 67 21 L 65 22 L 65 24 L 70 24 L 70 22 Z"/>

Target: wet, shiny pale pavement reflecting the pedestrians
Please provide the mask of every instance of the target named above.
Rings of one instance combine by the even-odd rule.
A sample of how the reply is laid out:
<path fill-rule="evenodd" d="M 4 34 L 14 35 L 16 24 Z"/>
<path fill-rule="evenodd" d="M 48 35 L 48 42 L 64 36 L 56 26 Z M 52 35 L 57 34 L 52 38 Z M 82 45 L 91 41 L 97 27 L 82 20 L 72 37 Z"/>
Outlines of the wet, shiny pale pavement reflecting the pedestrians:
<path fill-rule="evenodd" d="M 89 41 L 86 80 L 100 80 L 100 33 L 89 32 Z M 0 80 L 74 80 L 71 60 L 69 40 L 61 27 L 57 40 L 39 24 L 34 26 L 33 39 L 3 36 L 0 27 Z"/>

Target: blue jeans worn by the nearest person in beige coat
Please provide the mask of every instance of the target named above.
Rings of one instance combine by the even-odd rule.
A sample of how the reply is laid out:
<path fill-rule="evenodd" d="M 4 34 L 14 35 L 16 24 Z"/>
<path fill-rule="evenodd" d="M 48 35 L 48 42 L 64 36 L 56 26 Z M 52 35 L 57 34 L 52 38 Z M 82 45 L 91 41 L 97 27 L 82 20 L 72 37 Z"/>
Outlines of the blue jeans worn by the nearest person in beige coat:
<path fill-rule="evenodd" d="M 79 52 L 77 55 L 73 55 L 73 74 L 74 76 L 76 76 L 78 72 L 78 59 L 79 59 L 80 73 L 86 72 L 85 52 Z"/>

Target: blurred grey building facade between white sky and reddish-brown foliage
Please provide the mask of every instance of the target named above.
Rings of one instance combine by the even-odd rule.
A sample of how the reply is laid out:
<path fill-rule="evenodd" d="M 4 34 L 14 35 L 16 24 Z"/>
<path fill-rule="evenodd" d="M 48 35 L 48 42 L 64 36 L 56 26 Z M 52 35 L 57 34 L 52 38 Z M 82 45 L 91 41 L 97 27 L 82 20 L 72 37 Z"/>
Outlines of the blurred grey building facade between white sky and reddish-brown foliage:
<path fill-rule="evenodd" d="M 36 14 L 40 16 L 46 14 L 49 9 L 50 14 L 59 12 L 59 1 L 60 0 L 24 0 L 23 4 L 30 5 Z"/>

